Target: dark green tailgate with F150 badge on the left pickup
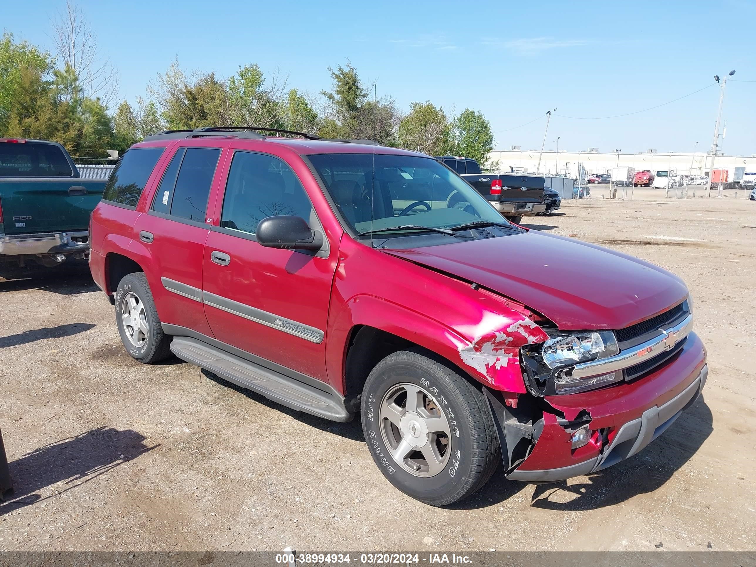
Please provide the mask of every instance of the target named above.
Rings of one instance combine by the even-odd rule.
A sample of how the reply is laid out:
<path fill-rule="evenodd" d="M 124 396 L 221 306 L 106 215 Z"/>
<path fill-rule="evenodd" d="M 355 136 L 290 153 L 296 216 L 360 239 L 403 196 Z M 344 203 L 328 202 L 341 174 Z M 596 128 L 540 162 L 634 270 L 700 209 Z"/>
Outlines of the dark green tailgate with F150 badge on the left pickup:
<path fill-rule="evenodd" d="M 76 178 L 0 179 L 5 234 L 86 231 L 106 181 Z"/>

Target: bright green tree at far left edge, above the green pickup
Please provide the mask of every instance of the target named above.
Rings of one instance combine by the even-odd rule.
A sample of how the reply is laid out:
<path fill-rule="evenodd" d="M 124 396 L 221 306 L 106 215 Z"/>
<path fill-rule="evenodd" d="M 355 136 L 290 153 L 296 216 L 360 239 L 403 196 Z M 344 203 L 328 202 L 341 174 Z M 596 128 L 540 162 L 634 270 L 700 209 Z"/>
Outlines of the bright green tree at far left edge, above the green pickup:
<path fill-rule="evenodd" d="M 37 80 L 45 82 L 52 69 L 50 54 L 29 42 L 14 42 L 13 34 L 0 38 L 0 134 L 8 129 L 11 112 L 22 102 L 29 104 L 29 93 L 23 91 L 23 73 L 26 85 Z M 35 79 L 38 77 L 39 79 Z M 39 87 L 39 82 L 38 85 Z M 38 96 L 39 93 L 37 93 Z M 28 109 L 27 109 L 28 111 Z"/>

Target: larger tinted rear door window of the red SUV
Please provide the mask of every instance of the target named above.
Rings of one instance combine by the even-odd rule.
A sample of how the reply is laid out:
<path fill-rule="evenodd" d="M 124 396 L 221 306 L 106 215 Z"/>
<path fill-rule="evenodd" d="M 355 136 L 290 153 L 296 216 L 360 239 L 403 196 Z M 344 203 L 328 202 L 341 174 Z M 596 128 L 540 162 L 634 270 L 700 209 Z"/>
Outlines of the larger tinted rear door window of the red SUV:
<path fill-rule="evenodd" d="M 173 195 L 171 196 L 169 192 L 167 199 L 170 206 L 169 215 L 184 218 L 187 221 L 205 222 L 207 199 L 210 195 L 212 177 L 215 175 L 215 166 L 218 165 L 220 156 L 221 150 L 218 148 L 187 147 L 184 158 L 181 160 L 181 168 L 178 169 Z M 175 160 L 176 156 L 173 159 Z M 168 173 L 166 171 L 166 176 Z M 161 205 L 166 199 L 166 189 L 162 191 L 163 193 L 158 196 Z"/>

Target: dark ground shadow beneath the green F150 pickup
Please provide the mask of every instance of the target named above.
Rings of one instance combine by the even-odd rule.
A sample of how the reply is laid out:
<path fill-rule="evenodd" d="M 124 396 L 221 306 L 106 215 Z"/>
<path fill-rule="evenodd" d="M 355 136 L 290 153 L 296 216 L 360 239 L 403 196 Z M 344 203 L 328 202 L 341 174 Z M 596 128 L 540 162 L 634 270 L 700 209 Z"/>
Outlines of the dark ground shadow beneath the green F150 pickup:
<path fill-rule="evenodd" d="M 0 293 L 5 291 L 45 290 L 64 296 L 94 293 L 99 288 L 92 280 L 85 261 L 67 260 L 54 268 L 27 266 L 18 268 L 0 264 Z"/>

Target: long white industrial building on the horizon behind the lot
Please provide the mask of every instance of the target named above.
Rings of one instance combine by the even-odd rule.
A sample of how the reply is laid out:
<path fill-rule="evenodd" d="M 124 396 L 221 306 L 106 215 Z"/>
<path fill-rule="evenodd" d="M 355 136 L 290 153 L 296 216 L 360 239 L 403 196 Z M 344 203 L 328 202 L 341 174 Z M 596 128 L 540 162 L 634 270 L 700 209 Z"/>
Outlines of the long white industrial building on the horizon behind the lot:
<path fill-rule="evenodd" d="M 536 172 L 538 168 L 538 154 L 540 150 L 522 150 L 513 146 L 510 150 L 493 150 L 489 160 L 499 160 L 499 172 Z M 636 171 L 650 169 L 671 170 L 680 175 L 708 175 L 711 169 L 711 155 L 708 153 L 668 152 L 659 153 L 656 150 L 645 152 L 613 151 L 600 152 L 598 148 L 586 151 L 562 151 L 559 154 L 553 150 L 544 150 L 541 157 L 542 175 L 567 175 L 575 177 L 578 164 L 581 163 L 586 173 L 607 173 L 613 167 L 630 166 Z M 751 156 L 720 156 L 714 162 L 714 169 L 745 167 L 746 170 L 756 170 L 756 154 Z"/>

